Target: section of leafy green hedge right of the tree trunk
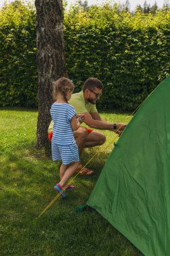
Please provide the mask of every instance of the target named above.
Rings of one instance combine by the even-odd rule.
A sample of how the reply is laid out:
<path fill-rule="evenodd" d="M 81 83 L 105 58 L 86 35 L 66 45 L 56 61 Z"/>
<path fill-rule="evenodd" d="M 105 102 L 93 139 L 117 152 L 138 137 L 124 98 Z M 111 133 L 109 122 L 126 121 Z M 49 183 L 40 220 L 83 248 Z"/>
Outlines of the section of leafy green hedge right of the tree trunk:
<path fill-rule="evenodd" d="M 101 79 L 101 108 L 132 110 L 169 75 L 169 13 L 132 16 L 105 6 L 72 14 L 65 17 L 69 76 L 77 90 L 89 76 Z"/>

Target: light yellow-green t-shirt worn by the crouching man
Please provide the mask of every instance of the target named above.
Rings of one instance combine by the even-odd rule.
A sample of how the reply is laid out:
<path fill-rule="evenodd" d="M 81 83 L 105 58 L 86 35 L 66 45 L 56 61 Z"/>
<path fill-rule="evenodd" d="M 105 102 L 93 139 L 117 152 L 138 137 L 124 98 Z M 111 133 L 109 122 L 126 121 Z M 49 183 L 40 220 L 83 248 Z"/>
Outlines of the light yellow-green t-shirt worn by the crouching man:
<path fill-rule="evenodd" d="M 97 108 L 94 104 L 85 102 L 83 91 L 72 94 L 71 99 L 69 100 L 69 103 L 72 106 L 74 106 L 75 112 L 77 114 L 82 114 L 86 112 L 88 113 L 97 112 Z M 52 127 L 53 127 L 53 121 L 51 121 L 48 131 L 52 131 Z"/>

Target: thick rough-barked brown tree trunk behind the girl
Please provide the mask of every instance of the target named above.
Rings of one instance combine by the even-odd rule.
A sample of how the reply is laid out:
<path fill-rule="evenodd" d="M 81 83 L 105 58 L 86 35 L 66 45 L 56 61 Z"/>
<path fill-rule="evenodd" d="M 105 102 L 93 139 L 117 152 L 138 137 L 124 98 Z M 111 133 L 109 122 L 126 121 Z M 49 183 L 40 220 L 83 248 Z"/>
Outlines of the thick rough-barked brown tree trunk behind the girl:
<path fill-rule="evenodd" d="M 35 0 L 38 63 L 38 123 L 36 147 L 48 147 L 52 82 L 66 77 L 62 0 Z"/>

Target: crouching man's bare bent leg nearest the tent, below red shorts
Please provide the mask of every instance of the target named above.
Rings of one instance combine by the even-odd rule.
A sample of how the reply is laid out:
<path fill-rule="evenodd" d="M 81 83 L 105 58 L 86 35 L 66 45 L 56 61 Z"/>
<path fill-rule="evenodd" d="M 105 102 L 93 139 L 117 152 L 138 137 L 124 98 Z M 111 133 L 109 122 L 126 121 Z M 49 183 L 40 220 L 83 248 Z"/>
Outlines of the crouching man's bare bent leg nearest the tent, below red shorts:
<path fill-rule="evenodd" d="M 91 148 L 95 146 L 101 146 L 105 143 L 105 135 L 99 133 L 98 131 L 91 131 L 85 139 L 84 147 Z"/>

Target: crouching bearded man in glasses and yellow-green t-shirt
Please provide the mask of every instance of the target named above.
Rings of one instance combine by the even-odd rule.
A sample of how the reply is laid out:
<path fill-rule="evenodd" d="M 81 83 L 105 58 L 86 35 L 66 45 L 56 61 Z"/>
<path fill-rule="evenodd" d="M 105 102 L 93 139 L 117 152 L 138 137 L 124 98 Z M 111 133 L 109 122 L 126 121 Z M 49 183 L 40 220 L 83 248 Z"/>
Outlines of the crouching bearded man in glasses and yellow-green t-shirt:
<path fill-rule="evenodd" d="M 83 122 L 90 128 L 95 128 L 99 130 L 109 130 L 122 132 L 126 125 L 124 123 L 108 123 L 101 119 L 97 108 L 95 106 L 97 100 L 101 97 L 101 92 L 103 90 L 103 84 L 101 81 L 95 77 L 90 77 L 85 81 L 83 90 L 81 92 L 72 94 L 69 103 L 74 106 L 77 114 L 84 114 L 85 120 Z M 93 129 L 86 129 L 85 127 L 80 127 L 74 132 L 75 140 L 79 148 L 79 155 L 83 148 L 90 148 L 94 146 L 101 146 L 105 142 L 105 135 L 99 133 L 98 131 L 93 131 Z M 83 166 L 79 166 L 77 172 L 79 172 Z M 83 168 L 81 175 L 93 174 L 92 170 L 88 168 Z"/>

